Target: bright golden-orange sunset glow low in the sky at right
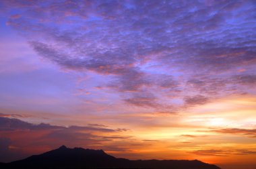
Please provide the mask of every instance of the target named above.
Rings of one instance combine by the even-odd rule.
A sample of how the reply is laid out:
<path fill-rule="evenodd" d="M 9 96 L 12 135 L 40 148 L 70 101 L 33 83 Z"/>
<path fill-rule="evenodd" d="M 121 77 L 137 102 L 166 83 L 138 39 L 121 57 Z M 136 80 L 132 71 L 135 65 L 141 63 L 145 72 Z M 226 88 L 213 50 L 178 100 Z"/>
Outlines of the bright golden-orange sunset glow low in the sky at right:
<path fill-rule="evenodd" d="M 234 96 L 193 107 L 189 113 L 110 114 L 104 115 L 106 123 L 100 121 L 98 117 L 94 117 L 93 114 L 90 115 L 89 119 L 94 119 L 90 123 L 102 123 L 107 125 L 109 129 L 117 129 L 120 126 L 129 129 L 119 131 L 119 133 L 93 132 L 95 135 L 101 135 L 101 137 L 112 137 L 109 141 L 104 141 L 104 146 L 117 147 L 113 150 L 106 149 L 106 152 L 113 156 L 130 159 L 197 159 L 221 166 L 222 164 L 236 164 L 236 159 L 245 162 L 253 162 L 255 159 L 255 137 L 243 133 L 216 133 L 212 131 L 225 128 L 255 128 L 255 103 L 256 98 L 253 96 L 243 98 Z M 125 118 L 119 122 L 119 117 Z M 23 119 L 34 121 L 33 117 L 29 116 Z M 74 115 L 71 119 L 74 119 L 77 125 L 88 123 L 84 121 L 86 117 L 82 115 Z M 57 118 L 53 120 L 61 124 Z M 70 124 L 67 122 L 68 120 L 65 120 L 64 124 L 69 126 Z M 72 124 L 74 124 L 73 121 Z M 86 133 L 86 131 L 80 132 Z M 36 132 L 33 133 L 33 137 L 36 139 L 48 133 L 47 130 Z M 14 143 L 18 143 L 18 140 L 23 140 L 25 137 L 30 137 L 30 131 L 2 134 L 12 137 Z M 127 139 L 124 141 L 122 137 L 127 137 Z M 79 144 L 83 146 L 82 142 Z M 18 148 L 19 145 L 24 146 L 25 144 L 20 142 L 18 146 L 13 144 L 10 148 Z M 100 144 L 93 142 L 90 144 L 90 148 L 98 149 L 99 146 Z M 84 147 L 88 148 L 88 146 Z M 123 148 L 123 151 L 120 152 L 119 148 Z M 51 150 L 51 148 L 40 149 L 40 151 L 44 150 Z M 38 153 L 32 149 L 28 151 L 33 154 Z"/>

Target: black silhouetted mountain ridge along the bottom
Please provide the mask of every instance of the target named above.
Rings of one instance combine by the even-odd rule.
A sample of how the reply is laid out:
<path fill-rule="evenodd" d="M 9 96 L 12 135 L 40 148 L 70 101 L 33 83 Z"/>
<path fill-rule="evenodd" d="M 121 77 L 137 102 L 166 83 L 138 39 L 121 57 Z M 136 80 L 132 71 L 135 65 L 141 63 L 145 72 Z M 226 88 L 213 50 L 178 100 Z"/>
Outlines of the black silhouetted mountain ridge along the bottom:
<path fill-rule="evenodd" d="M 0 168 L 152 168 L 152 169 L 220 169 L 198 160 L 127 160 L 115 158 L 103 150 L 61 146 L 24 160 L 0 163 Z"/>

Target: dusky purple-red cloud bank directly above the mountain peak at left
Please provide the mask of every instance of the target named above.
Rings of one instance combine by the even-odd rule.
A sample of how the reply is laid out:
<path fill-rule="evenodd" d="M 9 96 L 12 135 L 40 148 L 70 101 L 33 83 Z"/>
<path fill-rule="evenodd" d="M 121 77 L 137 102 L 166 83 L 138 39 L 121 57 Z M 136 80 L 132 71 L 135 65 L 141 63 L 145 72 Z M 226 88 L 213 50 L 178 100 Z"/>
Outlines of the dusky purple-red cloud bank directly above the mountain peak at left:
<path fill-rule="evenodd" d="M 105 125 L 98 124 L 63 127 L 45 123 L 32 124 L 19 119 L 0 117 L 0 150 L 6 152 L 1 162 L 19 160 L 19 158 L 42 153 L 63 144 L 71 147 L 79 145 L 84 148 L 108 150 L 109 143 L 111 148 L 117 143 L 118 150 L 121 140 L 131 142 L 130 139 L 132 139 L 129 135 L 120 135 L 121 131 L 125 132 L 129 129 L 109 129 Z"/>

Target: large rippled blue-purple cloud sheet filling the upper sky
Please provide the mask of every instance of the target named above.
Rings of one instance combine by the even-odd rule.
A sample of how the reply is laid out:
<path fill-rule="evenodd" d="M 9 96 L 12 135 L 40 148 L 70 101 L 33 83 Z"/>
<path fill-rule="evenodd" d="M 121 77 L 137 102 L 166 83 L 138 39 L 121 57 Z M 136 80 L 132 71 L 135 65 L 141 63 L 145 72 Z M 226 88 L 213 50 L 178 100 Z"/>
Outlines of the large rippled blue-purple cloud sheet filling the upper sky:
<path fill-rule="evenodd" d="M 255 83 L 248 76 L 256 62 L 253 1 L 2 3 L 20 9 L 17 17 L 4 11 L 8 25 L 42 58 L 110 79 L 96 86 L 117 91 L 124 103 L 174 107 L 172 99 L 189 93 L 189 107 Z"/>

